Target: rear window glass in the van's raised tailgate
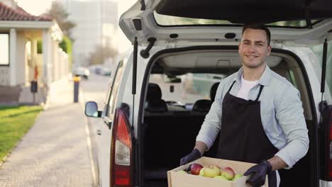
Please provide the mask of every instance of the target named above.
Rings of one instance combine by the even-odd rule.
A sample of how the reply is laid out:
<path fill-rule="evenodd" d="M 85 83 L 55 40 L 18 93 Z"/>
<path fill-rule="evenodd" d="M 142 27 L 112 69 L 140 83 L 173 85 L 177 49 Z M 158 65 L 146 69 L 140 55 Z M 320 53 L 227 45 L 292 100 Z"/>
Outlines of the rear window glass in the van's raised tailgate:
<path fill-rule="evenodd" d="M 155 22 L 159 26 L 199 26 L 199 25 L 216 25 L 216 26 L 242 26 L 234 24 L 226 20 L 210 20 L 199 18 L 183 18 L 177 16 L 166 16 L 159 13 L 153 13 Z M 319 23 L 318 20 L 311 20 L 311 24 Z M 306 21 L 278 21 L 275 23 L 267 23 L 267 26 L 287 27 L 287 28 L 305 28 Z"/>

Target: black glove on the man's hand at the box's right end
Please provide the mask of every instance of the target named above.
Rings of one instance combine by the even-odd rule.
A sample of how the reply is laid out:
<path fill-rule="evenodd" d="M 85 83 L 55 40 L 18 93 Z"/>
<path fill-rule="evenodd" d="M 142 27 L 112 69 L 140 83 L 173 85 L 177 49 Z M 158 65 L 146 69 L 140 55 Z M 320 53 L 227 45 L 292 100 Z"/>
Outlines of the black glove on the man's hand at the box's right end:
<path fill-rule="evenodd" d="M 251 186 L 257 187 L 264 185 L 266 175 L 270 174 L 271 171 L 272 166 L 270 162 L 265 160 L 260 164 L 250 167 L 250 169 L 245 171 L 243 175 L 248 176 L 250 174 L 253 174 L 253 176 L 251 176 L 251 178 L 248 179 L 246 182 L 250 183 Z"/>

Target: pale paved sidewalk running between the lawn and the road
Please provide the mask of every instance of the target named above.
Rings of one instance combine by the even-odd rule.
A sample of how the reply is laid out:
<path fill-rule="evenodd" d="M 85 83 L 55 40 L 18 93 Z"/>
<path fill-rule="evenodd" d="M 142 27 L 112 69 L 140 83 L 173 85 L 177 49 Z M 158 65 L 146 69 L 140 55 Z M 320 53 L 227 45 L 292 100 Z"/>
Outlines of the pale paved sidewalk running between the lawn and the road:
<path fill-rule="evenodd" d="M 94 186 L 87 118 L 62 81 L 46 111 L 0 167 L 0 186 Z M 82 101 L 82 100 L 81 100 Z"/>

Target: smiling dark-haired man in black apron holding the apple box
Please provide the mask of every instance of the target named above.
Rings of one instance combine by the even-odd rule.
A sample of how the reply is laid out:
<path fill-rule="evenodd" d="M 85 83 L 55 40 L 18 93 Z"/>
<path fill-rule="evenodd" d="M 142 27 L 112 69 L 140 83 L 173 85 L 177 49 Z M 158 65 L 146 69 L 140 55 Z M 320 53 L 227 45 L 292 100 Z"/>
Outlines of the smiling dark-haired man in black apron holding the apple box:
<path fill-rule="evenodd" d="M 257 165 L 244 175 L 252 186 L 279 186 L 277 169 L 290 169 L 309 147 L 299 91 L 265 63 L 271 53 L 270 30 L 260 24 L 243 26 L 238 53 L 243 67 L 223 79 L 206 115 L 193 151 L 181 165 L 199 159 L 220 140 L 217 158 Z"/>

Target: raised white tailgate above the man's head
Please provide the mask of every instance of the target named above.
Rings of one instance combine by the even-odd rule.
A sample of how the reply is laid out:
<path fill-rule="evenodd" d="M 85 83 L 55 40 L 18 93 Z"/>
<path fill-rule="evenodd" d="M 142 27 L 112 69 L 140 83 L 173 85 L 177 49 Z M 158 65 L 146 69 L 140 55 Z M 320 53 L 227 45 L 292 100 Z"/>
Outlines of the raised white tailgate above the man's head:
<path fill-rule="evenodd" d="M 332 38 L 332 1 L 140 0 L 122 14 L 119 26 L 139 45 L 148 38 L 156 38 L 155 45 L 237 45 L 242 24 L 252 22 L 269 26 L 272 43 L 319 44 Z"/>

